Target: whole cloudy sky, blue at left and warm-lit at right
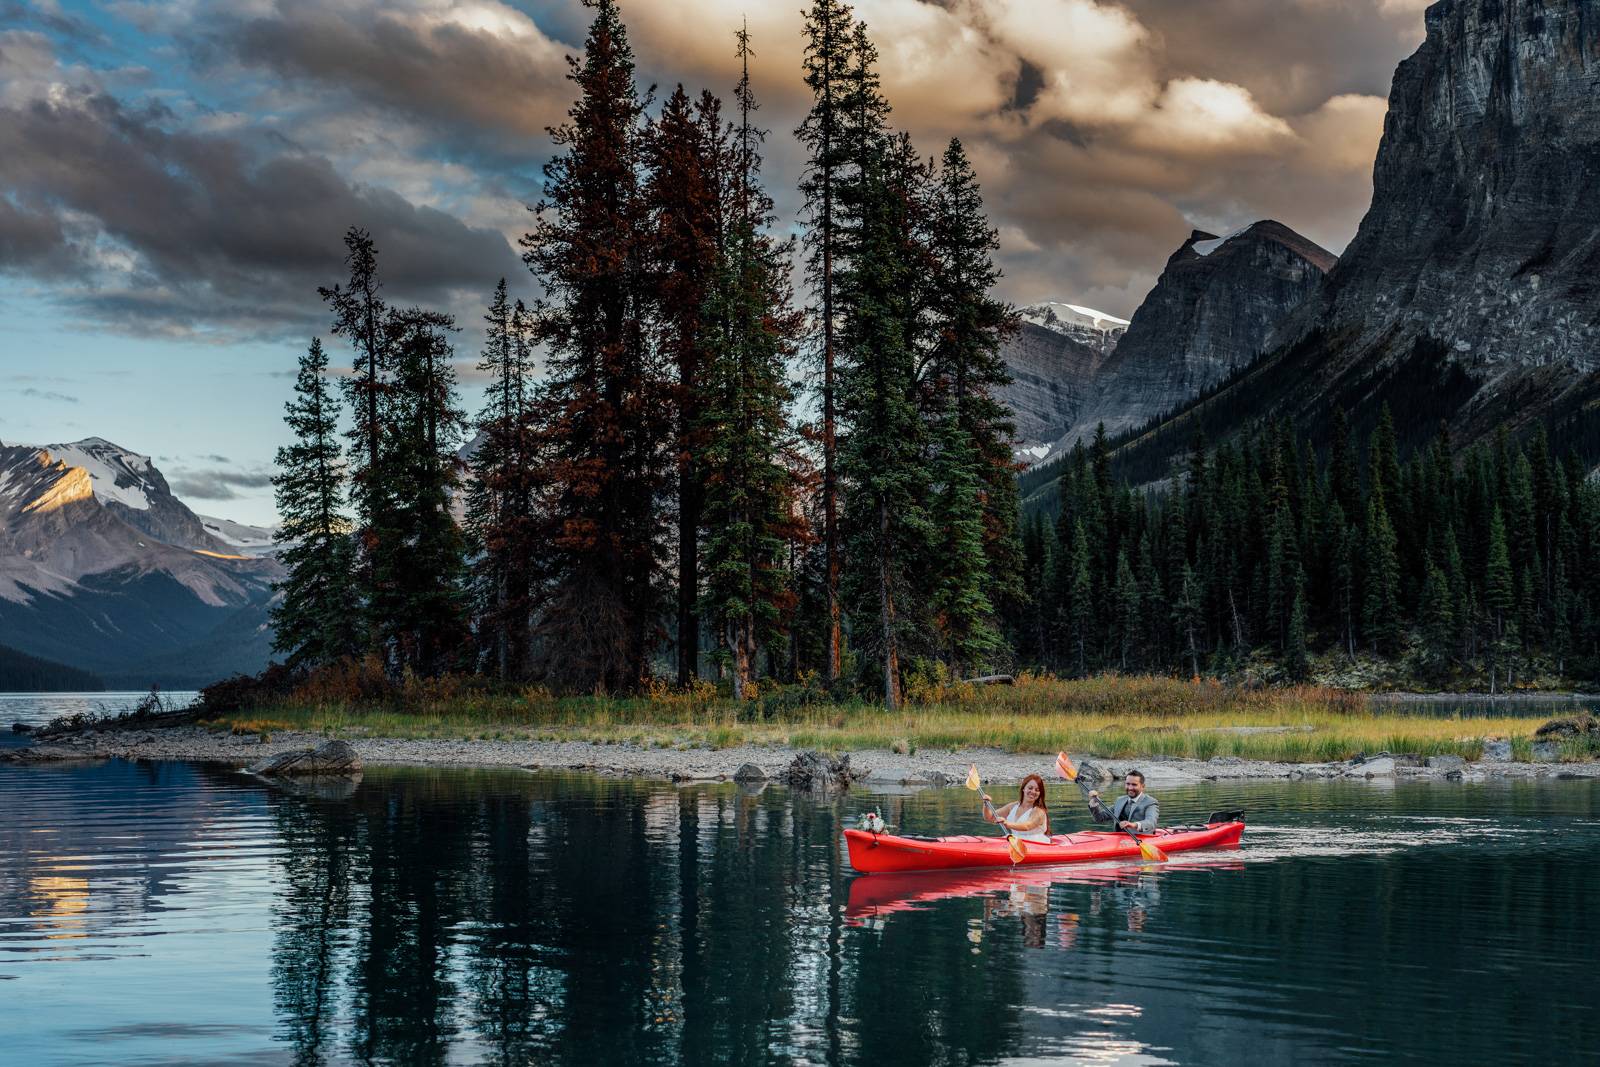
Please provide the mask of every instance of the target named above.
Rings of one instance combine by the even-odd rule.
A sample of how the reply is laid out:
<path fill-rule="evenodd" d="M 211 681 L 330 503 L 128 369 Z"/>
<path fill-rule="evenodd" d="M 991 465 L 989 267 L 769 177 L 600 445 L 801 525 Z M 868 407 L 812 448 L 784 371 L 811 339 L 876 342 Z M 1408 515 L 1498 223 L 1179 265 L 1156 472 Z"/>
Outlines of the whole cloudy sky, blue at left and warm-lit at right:
<path fill-rule="evenodd" d="M 726 94 L 749 19 L 792 222 L 802 0 L 621 6 L 658 99 Z M 1003 296 L 1126 317 L 1195 227 L 1342 250 L 1426 0 L 854 6 L 896 125 L 966 144 Z M 347 226 L 395 299 L 458 312 L 469 363 L 494 282 L 536 290 L 515 238 L 586 26 L 578 0 L 0 0 L 0 440 L 107 437 L 197 510 L 269 522 Z"/>

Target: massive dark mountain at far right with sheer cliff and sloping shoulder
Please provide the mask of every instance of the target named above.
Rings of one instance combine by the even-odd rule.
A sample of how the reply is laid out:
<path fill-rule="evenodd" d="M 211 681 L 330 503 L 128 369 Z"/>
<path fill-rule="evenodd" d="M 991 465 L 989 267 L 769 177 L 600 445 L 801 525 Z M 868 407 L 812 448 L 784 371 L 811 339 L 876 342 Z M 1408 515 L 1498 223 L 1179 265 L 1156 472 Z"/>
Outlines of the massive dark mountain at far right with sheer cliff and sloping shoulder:
<path fill-rule="evenodd" d="M 1120 450 L 1128 477 L 1242 416 L 1320 442 L 1386 403 L 1403 446 L 1542 422 L 1600 453 L 1600 5 L 1442 0 L 1426 26 L 1344 256 L 1256 365 Z"/>

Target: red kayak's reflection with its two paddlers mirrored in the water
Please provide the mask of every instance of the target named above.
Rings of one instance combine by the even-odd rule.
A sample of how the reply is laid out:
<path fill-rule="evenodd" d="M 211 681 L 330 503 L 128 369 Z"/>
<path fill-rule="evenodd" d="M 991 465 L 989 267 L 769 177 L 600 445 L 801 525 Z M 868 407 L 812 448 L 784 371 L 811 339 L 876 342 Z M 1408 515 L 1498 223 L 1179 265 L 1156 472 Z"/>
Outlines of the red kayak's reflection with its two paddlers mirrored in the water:
<path fill-rule="evenodd" d="M 1120 910 L 1130 931 L 1144 929 L 1150 912 L 1160 904 L 1162 878 L 1179 872 L 1243 870 L 1237 859 L 1195 859 L 1170 864 L 1118 864 L 1114 867 L 1046 867 L 1018 870 L 934 870 L 925 873 L 862 875 L 850 883 L 850 901 L 845 905 L 845 921 L 866 926 L 878 925 L 896 912 L 923 910 L 936 901 L 955 897 L 984 897 L 984 917 L 968 931 L 968 939 L 982 939 L 982 929 L 997 918 L 1018 918 L 1022 923 L 1022 942 L 1043 947 L 1053 941 L 1056 947 L 1072 949 L 1077 944 L 1080 913 L 1058 910 L 1051 915 L 1051 886 L 1088 886 L 1086 907 L 1090 915 L 1106 909 Z M 1053 933 L 1051 933 L 1053 931 Z"/>

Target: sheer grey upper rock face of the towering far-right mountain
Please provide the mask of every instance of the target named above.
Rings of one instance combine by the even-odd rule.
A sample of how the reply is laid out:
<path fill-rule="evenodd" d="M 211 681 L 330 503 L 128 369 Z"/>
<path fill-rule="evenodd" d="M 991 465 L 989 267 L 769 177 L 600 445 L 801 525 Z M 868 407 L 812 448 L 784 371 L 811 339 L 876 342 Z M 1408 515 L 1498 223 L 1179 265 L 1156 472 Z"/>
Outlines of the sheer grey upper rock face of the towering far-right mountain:
<path fill-rule="evenodd" d="M 1426 334 L 1485 381 L 1547 363 L 1590 371 L 1600 3 L 1445 0 L 1426 18 L 1320 325 L 1378 355 Z"/>

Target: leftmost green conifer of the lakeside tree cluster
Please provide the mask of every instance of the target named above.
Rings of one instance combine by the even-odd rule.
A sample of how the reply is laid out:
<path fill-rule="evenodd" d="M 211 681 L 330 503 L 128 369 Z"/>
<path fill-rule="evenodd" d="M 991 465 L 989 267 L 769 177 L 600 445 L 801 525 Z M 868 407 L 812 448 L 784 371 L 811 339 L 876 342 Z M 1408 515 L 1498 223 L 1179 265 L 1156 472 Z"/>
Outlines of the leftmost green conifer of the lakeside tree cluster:
<path fill-rule="evenodd" d="M 294 400 L 283 421 L 294 442 L 277 454 L 272 475 L 278 506 L 274 541 L 286 573 L 272 608 L 272 648 L 290 667 L 315 667 L 362 648 L 355 590 L 355 544 L 344 515 L 339 402 L 328 387 L 328 355 L 312 339 L 299 358 Z"/>

